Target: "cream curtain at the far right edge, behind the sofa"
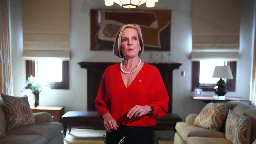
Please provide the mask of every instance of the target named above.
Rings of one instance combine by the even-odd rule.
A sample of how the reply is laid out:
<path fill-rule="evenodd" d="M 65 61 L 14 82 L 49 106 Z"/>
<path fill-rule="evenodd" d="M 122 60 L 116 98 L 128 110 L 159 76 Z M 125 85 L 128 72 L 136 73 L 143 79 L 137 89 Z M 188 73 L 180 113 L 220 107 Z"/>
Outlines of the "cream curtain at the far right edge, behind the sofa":
<path fill-rule="evenodd" d="M 254 1 L 254 48 L 252 60 L 251 105 L 256 107 L 256 1 Z"/>

